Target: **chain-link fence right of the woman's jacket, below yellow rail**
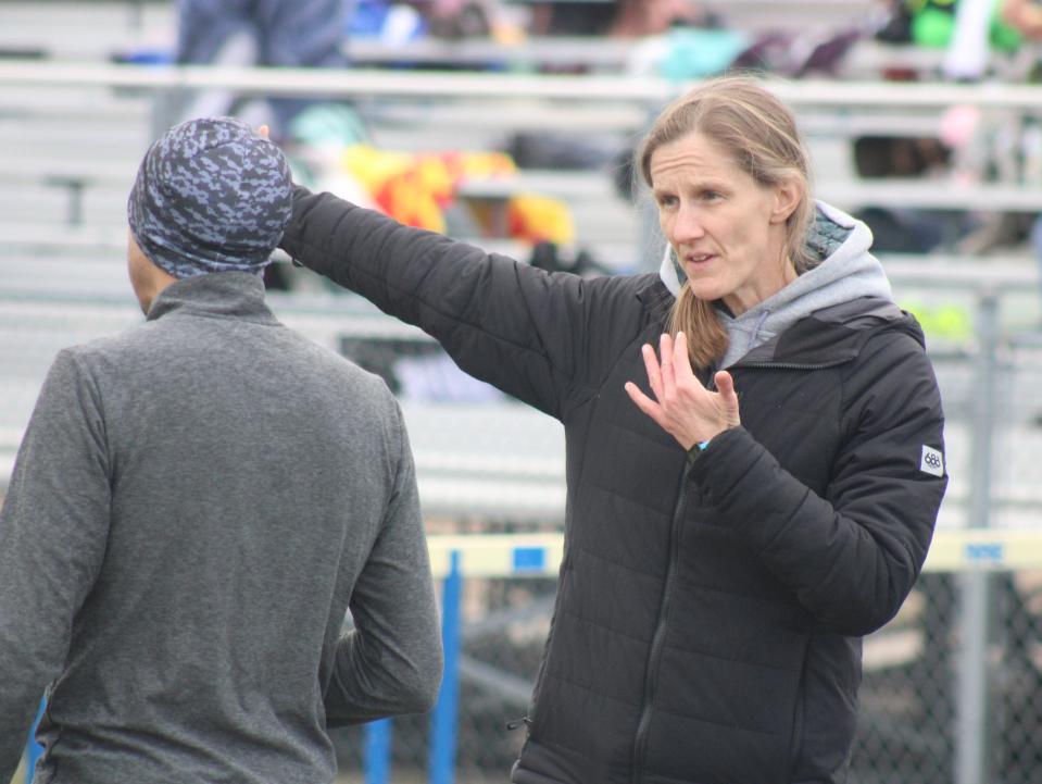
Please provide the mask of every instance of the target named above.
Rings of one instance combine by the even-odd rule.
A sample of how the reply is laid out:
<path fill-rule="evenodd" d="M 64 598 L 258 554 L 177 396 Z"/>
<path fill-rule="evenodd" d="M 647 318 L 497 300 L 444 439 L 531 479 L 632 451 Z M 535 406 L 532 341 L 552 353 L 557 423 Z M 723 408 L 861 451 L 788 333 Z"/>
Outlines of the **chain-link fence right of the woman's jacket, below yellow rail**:
<path fill-rule="evenodd" d="M 1042 572 L 988 575 L 993 631 L 984 717 L 988 781 L 1042 782 Z M 926 574 L 888 629 L 866 640 L 894 647 L 862 686 L 852 781 L 947 784 L 959 780 L 958 695 L 967 633 L 959 574 Z"/>

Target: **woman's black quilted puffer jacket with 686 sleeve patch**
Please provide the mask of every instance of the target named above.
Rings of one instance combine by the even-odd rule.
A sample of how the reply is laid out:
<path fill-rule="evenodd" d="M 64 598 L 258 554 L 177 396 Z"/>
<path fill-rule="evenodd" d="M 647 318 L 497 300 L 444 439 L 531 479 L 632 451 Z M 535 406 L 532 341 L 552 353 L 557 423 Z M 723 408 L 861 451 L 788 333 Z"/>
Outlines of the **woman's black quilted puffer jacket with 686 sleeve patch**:
<path fill-rule="evenodd" d="M 901 606 L 946 480 L 915 321 L 854 300 L 731 370 L 741 427 L 688 464 L 623 390 L 671 295 L 583 281 L 298 192 L 283 247 L 560 419 L 567 523 L 516 784 L 839 782 L 861 635 Z M 926 470 L 922 470 L 926 469 Z"/>

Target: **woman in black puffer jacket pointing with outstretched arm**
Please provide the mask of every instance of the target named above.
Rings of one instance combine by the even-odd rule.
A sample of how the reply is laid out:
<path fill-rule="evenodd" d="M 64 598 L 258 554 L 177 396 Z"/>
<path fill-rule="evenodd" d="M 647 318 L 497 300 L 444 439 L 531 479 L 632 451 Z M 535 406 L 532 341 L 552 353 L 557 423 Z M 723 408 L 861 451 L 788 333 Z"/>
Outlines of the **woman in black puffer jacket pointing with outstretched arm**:
<path fill-rule="evenodd" d="M 862 637 L 908 595 L 947 482 L 922 332 L 755 82 L 678 99 L 635 167 L 657 273 L 548 273 L 304 188 L 281 247 L 564 425 L 515 784 L 845 781 Z"/>

